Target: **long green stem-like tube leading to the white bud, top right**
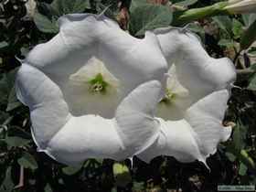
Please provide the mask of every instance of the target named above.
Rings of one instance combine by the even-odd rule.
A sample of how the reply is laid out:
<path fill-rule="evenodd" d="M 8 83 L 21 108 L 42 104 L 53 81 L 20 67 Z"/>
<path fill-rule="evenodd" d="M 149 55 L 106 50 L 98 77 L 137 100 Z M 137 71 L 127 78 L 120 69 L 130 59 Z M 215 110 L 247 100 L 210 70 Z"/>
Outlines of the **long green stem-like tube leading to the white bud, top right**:
<path fill-rule="evenodd" d="M 177 11 L 174 14 L 173 26 L 182 26 L 191 21 L 206 18 L 209 16 L 229 15 L 229 12 L 223 8 L 228 2 L 219 2 L 214 5 L 208 5 L 202 8 L 193 8 L 186 11 Z"/>

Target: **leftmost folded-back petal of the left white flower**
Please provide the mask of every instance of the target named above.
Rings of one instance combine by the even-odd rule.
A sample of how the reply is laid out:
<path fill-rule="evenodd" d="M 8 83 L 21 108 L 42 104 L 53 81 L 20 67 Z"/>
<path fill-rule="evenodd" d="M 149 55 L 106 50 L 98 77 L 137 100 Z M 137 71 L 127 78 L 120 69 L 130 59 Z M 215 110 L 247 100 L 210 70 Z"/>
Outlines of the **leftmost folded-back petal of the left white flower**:
<path fill-rule="evenodd" d="M 69 121 L 69 107 L 59 87 L 40 70 L 23 64 L 16 74 L 16 95 L 29 107 L 32 134 L 39 149 Z"/>

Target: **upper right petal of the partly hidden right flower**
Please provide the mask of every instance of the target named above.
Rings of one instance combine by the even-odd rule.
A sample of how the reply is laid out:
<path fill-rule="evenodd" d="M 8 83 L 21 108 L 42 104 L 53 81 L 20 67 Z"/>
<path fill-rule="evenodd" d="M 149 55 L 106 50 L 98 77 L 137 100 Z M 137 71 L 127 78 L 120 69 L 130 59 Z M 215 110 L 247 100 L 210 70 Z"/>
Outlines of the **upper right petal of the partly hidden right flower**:
<path fill-rule="evenodd" d="M 194 101 L 236 79 L 232 62 L 227 58 L 210 58 L 196 35 L 174 27 L 156 29 L 155 34 L 169 66 L 175 63 L 177 79 Z"/>

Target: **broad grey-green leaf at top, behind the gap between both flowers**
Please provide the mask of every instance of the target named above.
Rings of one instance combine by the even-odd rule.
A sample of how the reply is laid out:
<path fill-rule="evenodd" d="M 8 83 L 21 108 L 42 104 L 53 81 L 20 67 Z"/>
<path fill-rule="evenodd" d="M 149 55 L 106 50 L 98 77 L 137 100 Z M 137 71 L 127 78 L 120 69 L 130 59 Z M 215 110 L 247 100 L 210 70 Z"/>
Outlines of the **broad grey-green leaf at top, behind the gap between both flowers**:
<path fill-rule="evenodd" d="M 129 30 L 134 36 L 143 36 L 146 30 L 167 27 L 171 24 L 173 13 L 168 6 L 145 4 L 133 9 Z"/>

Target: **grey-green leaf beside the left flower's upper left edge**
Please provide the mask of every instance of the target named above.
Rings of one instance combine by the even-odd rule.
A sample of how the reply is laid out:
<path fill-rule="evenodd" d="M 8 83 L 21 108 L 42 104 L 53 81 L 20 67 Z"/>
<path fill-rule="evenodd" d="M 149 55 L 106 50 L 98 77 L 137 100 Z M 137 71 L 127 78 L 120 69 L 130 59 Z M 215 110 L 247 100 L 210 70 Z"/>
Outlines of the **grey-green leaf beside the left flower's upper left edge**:
<path fill-rule="evenodd" d="M 50 20 L 48 16 L 43 16 L 36 11 L 34 22 L 37 28 L 45 33 L 58 33 L 59 27 L 57 26 L 57 19 Z"/>

